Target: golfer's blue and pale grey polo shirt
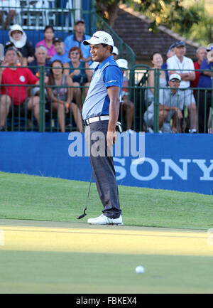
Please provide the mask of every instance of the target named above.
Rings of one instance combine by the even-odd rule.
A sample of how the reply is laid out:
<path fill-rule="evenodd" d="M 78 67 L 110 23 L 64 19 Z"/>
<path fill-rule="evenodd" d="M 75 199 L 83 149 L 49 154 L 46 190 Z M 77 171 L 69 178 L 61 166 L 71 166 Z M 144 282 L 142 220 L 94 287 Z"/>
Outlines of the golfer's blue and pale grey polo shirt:
<path fill-rule="evenodd" d="M 109 115 L 109 95 L 107 87 L 123 85 L 123 73 L 113 56 L 110 55 L 94 70 L 87 97 L 82 108 L 83 120 L 99 115 Z"/>

